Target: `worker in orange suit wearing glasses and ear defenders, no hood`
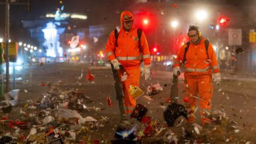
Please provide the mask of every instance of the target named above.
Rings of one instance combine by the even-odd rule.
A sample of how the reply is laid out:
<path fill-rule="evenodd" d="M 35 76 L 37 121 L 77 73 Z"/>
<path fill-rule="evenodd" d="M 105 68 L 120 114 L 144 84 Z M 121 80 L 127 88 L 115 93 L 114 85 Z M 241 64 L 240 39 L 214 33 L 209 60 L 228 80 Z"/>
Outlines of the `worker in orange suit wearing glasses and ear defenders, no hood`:
<path fill-rule="evenodd" d="M 211 110 L 213 82 L 217 84 L 221 82 L 221 73 L 215 50 L 211 43 L 202 37 L 199 27 L 190 26 L 187 34 L 190 41 L 180 48 L 173 65 L 173 75 L 179 75 L 180 67 L 184 66 L 186 91 L 184 102 L 188 110 L 188 121 L 194 122 L 194 110 L 200 99 L 201 122 L 203 126 L 205 124 L 209 126 L 211 123 L 205 114 Z"/>

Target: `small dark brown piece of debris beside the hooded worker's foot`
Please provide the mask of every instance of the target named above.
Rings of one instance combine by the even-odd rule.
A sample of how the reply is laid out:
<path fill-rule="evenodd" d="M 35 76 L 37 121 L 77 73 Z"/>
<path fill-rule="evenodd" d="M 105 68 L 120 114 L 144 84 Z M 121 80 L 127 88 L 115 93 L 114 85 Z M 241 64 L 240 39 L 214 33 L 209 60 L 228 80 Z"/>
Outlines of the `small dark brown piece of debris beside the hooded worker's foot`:
<path fill-rule="evenodd" d="M 144 117 L 148 113 L 148 109 L 141 104 L 137 104 L 135 109 L 133 109 L 133 113 L 131 113 L 130 117 L 135 118 L 141 122 L 142 117 Z"/>

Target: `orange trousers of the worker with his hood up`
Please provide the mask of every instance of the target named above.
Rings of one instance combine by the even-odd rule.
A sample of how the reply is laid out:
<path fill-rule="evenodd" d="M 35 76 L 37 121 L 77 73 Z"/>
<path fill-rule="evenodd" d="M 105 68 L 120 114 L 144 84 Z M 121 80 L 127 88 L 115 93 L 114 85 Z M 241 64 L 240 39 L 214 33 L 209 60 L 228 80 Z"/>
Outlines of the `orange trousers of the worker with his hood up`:
<path fill-rule="evenodd" d="M 140 80 L 140 67 L 125 67 L 125 72 L 128 77 L 126 81 L 121 82 L 123 86 L 125 113 L 132 113 L 136 106 L 136 99 L 130 96 L 130 85 L 139 86 Z M 119 77 L 121 77 L 121 71 L 118 71 Z M 120 78 L 121 79 L 121 78 Z"/>

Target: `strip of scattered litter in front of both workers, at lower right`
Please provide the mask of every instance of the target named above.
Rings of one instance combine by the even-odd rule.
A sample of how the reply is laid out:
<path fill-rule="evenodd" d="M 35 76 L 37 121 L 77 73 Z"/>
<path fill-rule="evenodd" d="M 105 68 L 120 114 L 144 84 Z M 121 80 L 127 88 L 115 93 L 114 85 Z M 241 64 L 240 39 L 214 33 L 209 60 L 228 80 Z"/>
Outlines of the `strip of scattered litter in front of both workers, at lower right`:
<path fill-rule="evenodd" d="M 123 118 L 112 143 L 255 143 L 256 128 L 238 126 L 224 111 L 205 113 L 211 125 L 204 127 L 186 121 L 183 105 L 171 103 L 163 113 L 167 126 L 146 115 L 148 109 L 138 104 Z M 254 135 L 254 136 L 253 136 Z"/>

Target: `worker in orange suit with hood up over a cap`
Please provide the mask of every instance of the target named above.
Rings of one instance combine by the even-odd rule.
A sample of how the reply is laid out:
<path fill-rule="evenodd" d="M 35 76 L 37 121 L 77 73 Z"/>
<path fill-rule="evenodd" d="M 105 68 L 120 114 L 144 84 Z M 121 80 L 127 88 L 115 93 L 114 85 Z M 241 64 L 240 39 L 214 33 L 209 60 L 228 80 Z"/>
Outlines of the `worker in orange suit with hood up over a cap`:
<path fill-rule="evenodd" d="M 129 95 L 130 85 L 139 86 L 140 81 L 140 63 L 144 61 L 145 79 L 150 78 L 150 52 L 148 43 L 143 31 L 139 37 L 138 29 L 133 24 L 134 16 L 131 12 L 125 10 L 121 12 L 121 27 L 118 31 L 118 37 L 115 37 L 115 31 L 112 31 L 108 42 L 106 43 L 106 54 L 108 60 L 118 70 L 119 78 L 123 76 L 119 65 L 123 65 L 127 79 L 121 81 L 124 94 L 125 113 L 131 114 L 136 105 L 136 100 Z"/>

